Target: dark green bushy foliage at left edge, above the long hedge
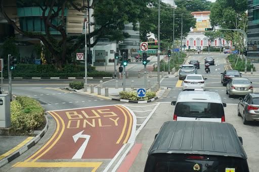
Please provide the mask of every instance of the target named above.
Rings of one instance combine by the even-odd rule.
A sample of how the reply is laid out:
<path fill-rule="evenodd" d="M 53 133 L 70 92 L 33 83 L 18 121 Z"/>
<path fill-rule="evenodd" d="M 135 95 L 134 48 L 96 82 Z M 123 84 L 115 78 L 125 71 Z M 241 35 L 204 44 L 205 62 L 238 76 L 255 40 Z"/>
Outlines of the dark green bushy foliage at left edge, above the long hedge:
<path fill-rule="evenodd" d="M 19 54 L 19 49 L 15 44 L 15 37 L 7 37 L 2 45 L 0 45 L 0 49 L 3 49 L 2 58 L 4 59 L 5 64 L 8 62 L 8 54 L 12 54 L 12 56 L 17 57 Z"/>

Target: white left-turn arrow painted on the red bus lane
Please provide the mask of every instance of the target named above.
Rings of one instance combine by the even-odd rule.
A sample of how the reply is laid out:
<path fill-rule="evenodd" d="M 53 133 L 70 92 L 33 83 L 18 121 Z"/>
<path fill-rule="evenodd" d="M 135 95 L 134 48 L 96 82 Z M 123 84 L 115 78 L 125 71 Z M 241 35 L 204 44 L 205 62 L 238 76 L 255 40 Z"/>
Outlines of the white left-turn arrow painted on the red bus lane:
<path fill-rule="evenodd" d="M 74 142 L 76 143 L 76 141 L 79 139 L 79 138 L 85 138 L 85 141 L 83 142 L 83 144 L 81 145 L 81 147 L 77 150 L 77 152 L 75 153 L 75 155 L 72 157 L 72 159 L 81 159 L 82 156 L 83 156 L 83 152 L 85 150 L 85 148 L 87 148 L 87 144 L 88 144 L 88 141 L 90 140 L 90 135 L 86 135 L 86 134 L 82 134 L 84 132 L 81 131 L 75 135 L 73 135 L 73 139 L 74 139 Z"/>

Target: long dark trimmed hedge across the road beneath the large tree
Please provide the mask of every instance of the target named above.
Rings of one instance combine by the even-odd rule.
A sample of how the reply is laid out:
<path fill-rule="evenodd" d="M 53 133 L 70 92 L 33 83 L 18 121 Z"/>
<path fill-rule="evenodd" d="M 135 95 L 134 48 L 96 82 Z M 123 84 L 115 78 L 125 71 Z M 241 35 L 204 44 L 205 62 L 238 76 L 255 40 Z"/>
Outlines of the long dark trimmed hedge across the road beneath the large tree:
<path fill-rule="evenodd" d="M 7 66 L 4 66 L 4 77 L 8 77 Z M 65 65 L 62 69 L 57 69 L 53 65 L 28 65 L 18 64 L 12 71 L 12 77 L 84 77 L 84 66 L 82 65 Z M 112 77 L 111 73 L 99 72 L 95 67 L 91 67 L 88 77 Z"/>

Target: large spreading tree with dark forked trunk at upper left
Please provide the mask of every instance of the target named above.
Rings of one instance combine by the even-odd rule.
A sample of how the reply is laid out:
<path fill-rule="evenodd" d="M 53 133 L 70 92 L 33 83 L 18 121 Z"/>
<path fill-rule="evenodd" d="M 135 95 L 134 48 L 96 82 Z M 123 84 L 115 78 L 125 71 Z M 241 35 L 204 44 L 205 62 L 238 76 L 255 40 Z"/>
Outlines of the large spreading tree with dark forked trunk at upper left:
<path fill-rule="evenodd" d="M 4 1 L 0 0 L 0 12 L 6 18 L 9 24 L 20 34 L 41 40 L 48 50 L 52 53 L 54 61 L 57 67 L 62 67 L 69 56 L 76 49 L 83 47 L 84 35 L 69 36 L 66 33 L 65 23 L 65 10 L 73 7 L 78 11 L 82 11 L 87 6 L 82 6 L 77 3 L 76 0 L 20 0 L 24 6 L 40 7 L 42 10 L 42 21 L 45 26 L 45 34 L 28 32 L 22 30 L 16 25 L 14 21 L 7 15 L 4 7 Z M 7 1 L 7 0 L 6 0 Z M 94 17 L 96 21 L 95 30 L 87 35 L 87 39 L 95 38 L 91 45 L 93 47 L 100 38 L 107 37 L 110 40 L 123 40 L 128 37 L 128 34 L 123 32 L 124 24 L 133 23 L 135 29 L 137 29 L 137 22 L 142 19 L 142 16 L 148 11 L 147 5 L 149 0 L 100 0 L 94 1 L 94 4 L 90 8 L 94 8 Z M 59 19 L 59 23 L 55 23 L 56 19 Z M 56 30 L 60 32 L 61 39 L 51 35 L 50 30 Z"/>

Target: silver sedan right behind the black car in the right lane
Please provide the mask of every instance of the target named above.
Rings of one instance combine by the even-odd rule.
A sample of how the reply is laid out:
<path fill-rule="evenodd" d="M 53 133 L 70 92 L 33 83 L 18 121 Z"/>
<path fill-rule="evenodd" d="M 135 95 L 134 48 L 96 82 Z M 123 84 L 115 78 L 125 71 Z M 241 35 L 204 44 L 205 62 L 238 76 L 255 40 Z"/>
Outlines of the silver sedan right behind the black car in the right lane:
<path fill-rule="evenodd" d="M 232 78 L 227 84 L 227 94 L 232 95 L 246 95 L 253 92 L 252 82 L 247 78 Z"/>

